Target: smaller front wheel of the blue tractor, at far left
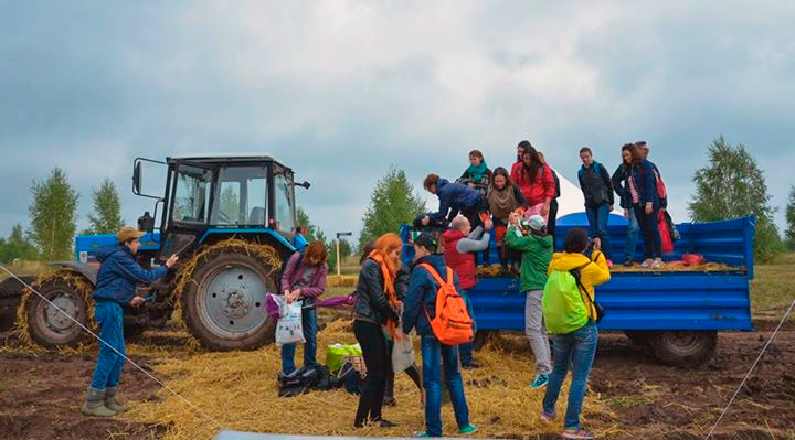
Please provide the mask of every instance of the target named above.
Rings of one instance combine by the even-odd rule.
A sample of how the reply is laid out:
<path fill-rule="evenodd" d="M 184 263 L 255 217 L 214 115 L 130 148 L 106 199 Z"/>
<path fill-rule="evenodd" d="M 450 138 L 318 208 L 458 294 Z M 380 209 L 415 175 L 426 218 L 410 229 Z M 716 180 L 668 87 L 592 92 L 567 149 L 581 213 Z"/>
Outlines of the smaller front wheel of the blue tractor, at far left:
<path fill-rule="evenodd" d="M 88 326 L 85 294 L 73 282 L 62 278 L 45 281 L 36 290 L 57 308 L 35 293 L 28 297 L 28 331 L 33 341 L 47 348 L 77 346 L 83 342 L 87 333 L 75 321 Z"/>

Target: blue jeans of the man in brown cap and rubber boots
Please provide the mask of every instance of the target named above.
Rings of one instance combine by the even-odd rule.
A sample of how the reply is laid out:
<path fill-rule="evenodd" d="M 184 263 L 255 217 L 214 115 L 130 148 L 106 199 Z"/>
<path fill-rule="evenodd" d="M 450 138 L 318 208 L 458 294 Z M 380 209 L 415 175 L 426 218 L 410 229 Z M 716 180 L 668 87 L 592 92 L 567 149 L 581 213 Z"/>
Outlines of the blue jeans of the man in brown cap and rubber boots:
<path fill-rule="evenodd" d="M 94 320 L 99 326 L 99 339 L 104 342 L 99 343 L 99 357 L 91 386 L 96 389 L 116 387 L 121 377 L 121 366 L 125 361 L 123 355 L 126 355 L 124 309 L 115 301 L 97 301 L 94 305 Z"/>

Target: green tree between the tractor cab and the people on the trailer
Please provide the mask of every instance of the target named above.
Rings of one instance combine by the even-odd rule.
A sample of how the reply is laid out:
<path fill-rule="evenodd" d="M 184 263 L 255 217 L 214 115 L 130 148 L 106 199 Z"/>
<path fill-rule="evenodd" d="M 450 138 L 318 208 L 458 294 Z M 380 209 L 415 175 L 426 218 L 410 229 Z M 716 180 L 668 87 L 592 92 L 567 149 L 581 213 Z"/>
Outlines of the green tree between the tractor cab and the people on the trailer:
<path fill-rule="evenodd" d="M 396 233 L 404 223 L 425 212 L 425 202 L 409 183 L 403 170 L 392 167 L 375 183 L 370 205 L 364 212 L 359 249 L 385 233 Z"/>

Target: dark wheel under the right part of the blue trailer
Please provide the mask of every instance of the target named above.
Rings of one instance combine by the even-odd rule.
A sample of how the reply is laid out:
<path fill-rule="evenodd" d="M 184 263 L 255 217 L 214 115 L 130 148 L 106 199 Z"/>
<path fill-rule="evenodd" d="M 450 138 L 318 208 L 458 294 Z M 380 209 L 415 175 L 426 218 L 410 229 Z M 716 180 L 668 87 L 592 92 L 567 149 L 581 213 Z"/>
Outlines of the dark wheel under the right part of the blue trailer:
<path fill-rule="evenodd" d="M 653 332 L 648 343 L 655 356 L 666 365 L 698 367 L 712 357 L 718 345 L 718 332 Z"/>

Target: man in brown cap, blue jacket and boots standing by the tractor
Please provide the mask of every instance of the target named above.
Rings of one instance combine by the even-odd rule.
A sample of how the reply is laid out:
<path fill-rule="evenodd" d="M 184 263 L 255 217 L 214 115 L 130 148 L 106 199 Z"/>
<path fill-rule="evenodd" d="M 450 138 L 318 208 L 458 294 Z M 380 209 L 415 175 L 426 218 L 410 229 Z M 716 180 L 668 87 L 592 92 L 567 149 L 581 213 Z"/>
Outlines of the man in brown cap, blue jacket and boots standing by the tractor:
<path fill-rule="evenodd" d="M 96 253 L 102 262 L 92 297 L 94 320 L 99 326 L 99 355 L 92 376 L 91 386 L 83 405 L 86 416 L 112 417 L 127 410 L 116 396 L 121 378 L 121 366 L 126 351 L 124 343 L 124 308 L 139 307 L 145 299 L 136 296 L 136 283 L 150 285 L 168 273 L 177 264 L 172 255 L 165 266 L 144 269 L 135 256 L 140 247 L 140 237 L 146 233 L 124 227 L 116 234 L 117 245 L 104 247 Z"/>

